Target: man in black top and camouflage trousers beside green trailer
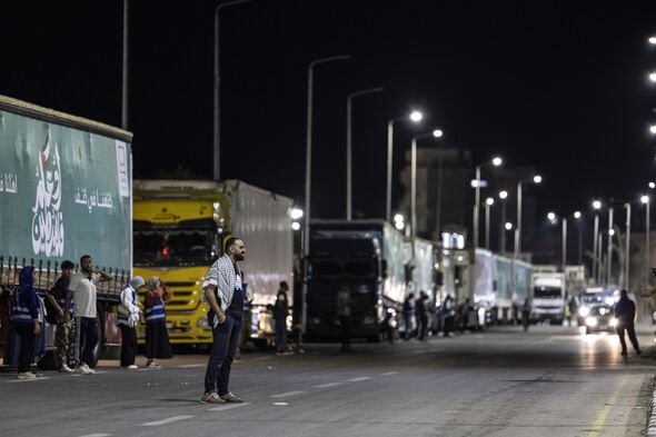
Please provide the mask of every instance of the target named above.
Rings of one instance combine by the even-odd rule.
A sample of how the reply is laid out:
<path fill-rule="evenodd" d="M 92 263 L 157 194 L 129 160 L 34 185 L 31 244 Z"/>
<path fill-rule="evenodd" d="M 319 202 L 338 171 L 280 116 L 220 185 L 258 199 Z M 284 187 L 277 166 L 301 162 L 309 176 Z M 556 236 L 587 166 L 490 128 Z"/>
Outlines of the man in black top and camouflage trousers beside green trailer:
<path fill-rule="evenodd" d="M 73 299 L 72 292 L 68 289 L 74 265 L 68 259 L 61 262 L 61 276 L 54 286 L 48 291 L 50 310 L 54 312 L 57 330 L 54 345 L 59 360 L 59 371 L 72 374 L 76 360 L 76 325 L 73 322 Z"/>

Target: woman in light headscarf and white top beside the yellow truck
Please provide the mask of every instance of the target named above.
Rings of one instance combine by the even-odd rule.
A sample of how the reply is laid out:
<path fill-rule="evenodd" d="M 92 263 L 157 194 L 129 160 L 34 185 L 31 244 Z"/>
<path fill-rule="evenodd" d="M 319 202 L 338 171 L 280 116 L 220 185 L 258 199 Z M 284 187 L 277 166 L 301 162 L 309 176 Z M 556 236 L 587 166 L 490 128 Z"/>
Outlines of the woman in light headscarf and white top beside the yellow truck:
<path fill-rule="evenodd" d="M 130 282 L 121 290 L 119 302 L 118 325 L 121 328 L 121 367 L 123 369 L 137 369 L 137 321 L 139 321 L 139 297 L 137 290 L 146 282 L 140 276 L 130 279 Z"/>

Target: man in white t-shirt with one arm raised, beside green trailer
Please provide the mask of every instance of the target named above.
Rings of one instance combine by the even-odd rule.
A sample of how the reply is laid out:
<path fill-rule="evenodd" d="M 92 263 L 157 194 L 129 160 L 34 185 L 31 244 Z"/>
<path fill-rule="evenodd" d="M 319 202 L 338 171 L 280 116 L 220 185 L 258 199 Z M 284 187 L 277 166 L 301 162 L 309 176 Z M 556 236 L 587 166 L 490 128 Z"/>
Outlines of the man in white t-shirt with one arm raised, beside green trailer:
<path fill-rule="evenodd" d="M 83 375 L 95 374 L 89 367 L 93 362 L 93 348 L 98 344 L 98 322 L 96 321 L 96 284 L 111 280 L 111 276 L 93 269 L 93 261 L 89 255 L 80 258 L 82 271 L 71 277 L 69 290 L 76 301 L 76 371 Z"/>

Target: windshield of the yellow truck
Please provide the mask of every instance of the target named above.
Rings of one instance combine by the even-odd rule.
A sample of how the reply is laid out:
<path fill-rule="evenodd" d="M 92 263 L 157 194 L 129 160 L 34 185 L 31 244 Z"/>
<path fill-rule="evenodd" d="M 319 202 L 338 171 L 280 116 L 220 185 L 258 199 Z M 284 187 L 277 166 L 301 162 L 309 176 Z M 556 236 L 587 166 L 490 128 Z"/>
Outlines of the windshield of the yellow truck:
<path fill-rule="evenodd" d="M 216 258 L 212 229 L 133 225 L 136 266 L 209 266 Z"/>

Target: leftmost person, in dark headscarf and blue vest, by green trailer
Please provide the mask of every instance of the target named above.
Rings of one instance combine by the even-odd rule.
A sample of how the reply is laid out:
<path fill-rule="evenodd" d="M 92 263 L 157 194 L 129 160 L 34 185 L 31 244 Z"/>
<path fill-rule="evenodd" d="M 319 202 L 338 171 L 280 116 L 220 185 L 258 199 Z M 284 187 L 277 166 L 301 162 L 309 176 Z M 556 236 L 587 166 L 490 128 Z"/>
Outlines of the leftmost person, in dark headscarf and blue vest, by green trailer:
<path fill-rule="evenodd" d="M 34 338 L 41 332 L 39 325 L 40 300 L 34 290 L 34 267 L 20 270 L 18 287 L 12 296 L 11 325 L 20 338 L 18 379 L 36 379 L 30 371 L 34 352 Z"/>

